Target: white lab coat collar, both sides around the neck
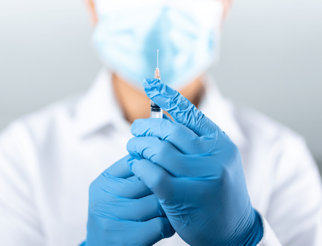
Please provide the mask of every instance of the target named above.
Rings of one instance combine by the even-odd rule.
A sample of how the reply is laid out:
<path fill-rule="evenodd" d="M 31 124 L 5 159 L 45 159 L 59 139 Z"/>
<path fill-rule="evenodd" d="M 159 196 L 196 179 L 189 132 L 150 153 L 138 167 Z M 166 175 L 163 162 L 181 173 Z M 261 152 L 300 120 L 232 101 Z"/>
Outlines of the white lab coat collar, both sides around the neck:
<path fill-rule="evenodd" d="M 115 100 L 112 75 L 105 68 L 98 73 L 93 85 L 76 108 L 76 131 L 80 137 L 90 135 L 111 124 L 121 131 L 129 131 L 120 105 Z M 246 140 L 236 120 L 233 103 L 223 98 L 214 79 L 208 72 L 203 76 L 207 94 L 199 109 L 215 122 L 240 147 Z"/>

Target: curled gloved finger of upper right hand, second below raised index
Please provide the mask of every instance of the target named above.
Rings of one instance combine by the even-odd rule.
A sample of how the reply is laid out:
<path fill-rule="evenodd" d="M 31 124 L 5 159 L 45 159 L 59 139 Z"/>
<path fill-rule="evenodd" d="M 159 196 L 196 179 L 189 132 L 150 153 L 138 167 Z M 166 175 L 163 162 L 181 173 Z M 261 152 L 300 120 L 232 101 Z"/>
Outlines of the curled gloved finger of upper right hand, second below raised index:
<path fill-rule="evenodd" d="M 127 150 L 132 156 L 129 160 L 148 159 L 174 177 L 204 177 L 213 175 L 217 170 L 209 165 L 214 163 L 211 155 L 203 154 L 203 161 L 200 162 L 198 154 L 182 154 L 170 142 L 158 137 L 131 138 L 127 144 Z M 135 173 L 134 175 L 136 176 Z"/>

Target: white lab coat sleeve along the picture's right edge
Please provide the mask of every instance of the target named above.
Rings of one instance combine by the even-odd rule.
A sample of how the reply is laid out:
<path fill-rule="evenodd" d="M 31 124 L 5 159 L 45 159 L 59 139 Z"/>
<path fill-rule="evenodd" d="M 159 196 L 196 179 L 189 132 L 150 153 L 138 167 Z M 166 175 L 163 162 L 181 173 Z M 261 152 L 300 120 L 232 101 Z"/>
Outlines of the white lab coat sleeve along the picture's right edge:
<path fill-rule="evenodd" d="M 283 134 L 278 149 L 262 245 L 278 245 L 276 235 L 282 245 L 321 246 L 322 185 L 317 165 L 304 140 L 294 133 Z"/>

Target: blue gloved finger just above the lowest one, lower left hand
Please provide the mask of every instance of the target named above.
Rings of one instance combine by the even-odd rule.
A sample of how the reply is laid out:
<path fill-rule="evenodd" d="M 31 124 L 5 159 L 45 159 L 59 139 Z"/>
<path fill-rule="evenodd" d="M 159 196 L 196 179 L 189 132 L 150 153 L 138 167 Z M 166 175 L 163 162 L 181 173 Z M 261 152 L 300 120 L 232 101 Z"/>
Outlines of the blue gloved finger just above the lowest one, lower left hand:
<path fill-rule="evenodd" d="M 155 194 L 139 199 L 128 199 L 117 195 L 101 196 L 90 209 L 105 217 L 132 221 L 147 221 L 155 217 L 165 217 Z"/>

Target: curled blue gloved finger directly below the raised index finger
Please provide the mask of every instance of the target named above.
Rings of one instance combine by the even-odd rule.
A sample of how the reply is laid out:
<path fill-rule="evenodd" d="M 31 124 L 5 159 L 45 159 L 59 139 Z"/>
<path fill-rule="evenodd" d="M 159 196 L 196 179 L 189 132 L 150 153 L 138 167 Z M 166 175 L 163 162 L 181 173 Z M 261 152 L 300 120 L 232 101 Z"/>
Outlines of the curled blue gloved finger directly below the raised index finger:
<path fill-rule="evenodd" d="M 165 119 L 138 119 L 131 125 L 134 137 L 156 136 L 169 141 L 184 154 L 207 154 L 212 152 L 216 140 L 214 138 L 196 135 L 191 129 L 181 123 Z"/>

